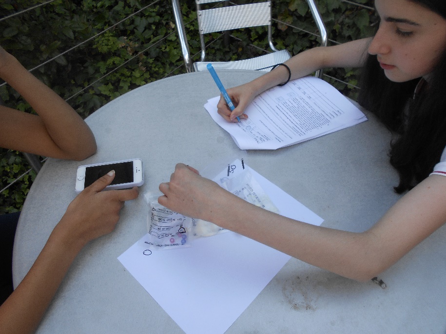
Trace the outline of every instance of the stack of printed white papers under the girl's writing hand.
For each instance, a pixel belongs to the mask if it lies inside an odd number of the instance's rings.
[[[227,122],[217,113],[219,99],[210,99],[204,107],[240,149],[281,148],[367,120],[333,86],[312,76],[261,93],[246,108],[248,119],[238,123]]]

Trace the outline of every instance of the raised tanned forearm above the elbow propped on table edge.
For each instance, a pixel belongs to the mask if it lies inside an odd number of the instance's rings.
[[[38,113],[56,149],[52,156],[83,160],[96,152],[95,137],[78,113],[58,94],[30,74],[16,58],[0,68],[0,77]]]

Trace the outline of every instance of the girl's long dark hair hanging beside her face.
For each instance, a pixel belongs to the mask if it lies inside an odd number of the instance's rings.
[[[446,0],[409,0],[446,19]],[[410,190],[427,178],[446,147],[446,45],[429,76],[427,88],[415,99],[420,78],[390,81],[376,56],[369,55],[361,76],[358,102],[395,134],[390,143],[390,163],[400,176],[397,193]]]

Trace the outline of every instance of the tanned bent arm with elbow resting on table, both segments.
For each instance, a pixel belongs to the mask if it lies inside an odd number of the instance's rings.
[[[0,147],[73,160],[96,152],[93,132],[78,113],[1,47],[0,77],[38,113],[0,106]]]

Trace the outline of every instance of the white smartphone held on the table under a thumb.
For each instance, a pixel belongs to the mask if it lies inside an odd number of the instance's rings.
[[[107,162],[102,164],[84,165],[78,167],[76,175],[76,192],[81,192],[97,179],[115,170],[115,179],[105,187],[105,190],[132,188],[144,183],[144,170],[141,159]]]

